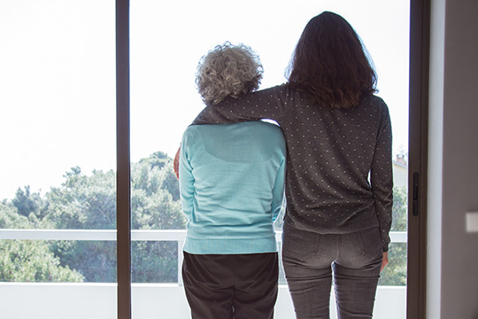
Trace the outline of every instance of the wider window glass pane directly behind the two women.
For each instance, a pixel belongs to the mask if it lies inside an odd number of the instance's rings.
[[[406,231],[406,176],[408,152],[408,2],[383,2],[380,0],[342,1],[131,1],[131,154],[133,196],[133,238],[135,230],[151,232],[159,242],[173,241],[180,247],[176,257],[181,269],[181,240],[184,235],[184,219],[177,197],[177,182],[172,173],[172,160],[181,142],[185,128],[204,107],[195,87],[195,74],[199,59],[215,45],[229,41],[244,43],[254,49],[264,66],[261,88],[265,89],[285,82],[284,70],[305,24],[323,11],[337,12],[356,28],[361,36],[378,73],[378,95],[389,105],[394,135],[394,172],[397,198],[402,201],[394,207],[393,231]],[[161,163],[161,164],[155,164]],[[165,183],[164,181],[167,181]],[[401,189],[400,187],[405,187]],[[166,203],[168,203],[166,205]],[[178,210],[179,209],[179,210]],[[173,231],[173,235],[168,231]],[[276,224],[281,230],[281,222]],[[181,232],[182,231],[182,232]],[[138,233],[139,234],[139,233]],[[143,233],[142,233],[143,234]],[[139,236],[139,235],[138,235]],[[141,235],[146,236],[146,235]],[[394,238],[402,240],[405,233]],[[138,237],[139,238],[139,237]],[[278,236],[280,238],[280,236]],[[135,240],[135,239],[133,239]],[[143,240],[143,239],[142,239]],[[133,245],[133,255],[153,250],[152,244]],[[392,245],[388,272],[381,284],[391,285],[389,274],[402,271],[402,253]],[[177,249],[171,245],[171,249]],[[401,249],[401,248],[400,248]],[[405,249],[405,248],[404,248]],[[169,248],[165,255],[173,258]],[[406,253],[405,253],[406,255]],[[158,256],[162,256],[158,253]],[[135,259],[134,271],[154,272],[147,262]],[[158,266],[159,267],[159,266]],[[143,270],[142,270],[143,269]],[[172,270],[171,274],[174,271]],[[406,271],[405,271],[406,273]],[[134,273],[135,274],[135,273]],[[153,278],[154,274],[149,276]],[[389,294],[389,287],[379,287],[375,314],[389,317],[390,304],[397,303],[397,318],[405,318],[405,276],[393,284],[397,295]],[[173,300],[181,294],[181,276],[176,285],[156,279],[150,281],[149,292],[168,300],[161,310],[152,309],[142,301],[146,281],[135,275],[133,290],[134,317],[155,311],[169,314],[173,309],[187,307],[186,300]],[[146,276],[145,276],[146,277]],[[172,275],[173,277],[173,275]],[[139,284],[142,283],[142,284]],[[293,307],[281,269],[281,289],[276,304],[278,318],[293,317]],[[394,288],[395,289],[395,288]],[[394,291],[395,292],[395,291]],[[398,299],[398,301],[397,301]],[[331,309],[335,308],[332,302]],[[403,306],[403,307],[402,307]],[[146,309],[144,308],[146,307]],[[156,306],[154,307],[156,308]],[[332,310],[334,312],[334,310]],[[386,315],[384,315],[386,314]],[[148,316],[144,316],[148,317]],[[392,319],[396,318],[393,317]]]

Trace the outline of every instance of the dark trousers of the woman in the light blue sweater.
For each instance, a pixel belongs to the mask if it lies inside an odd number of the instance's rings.
[[[184,252],[182,280],[192,318],[273,318],[277,260],[277,253]]]

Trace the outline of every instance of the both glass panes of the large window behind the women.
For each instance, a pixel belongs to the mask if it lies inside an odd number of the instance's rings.
[[[353,0],[274,5],[246,0],[231,8],[219,0],[131,1],[130,20],[129,1],[116,4],[116,52],[113,1],[18,0],[0,12],[5,154],[0,159],[0,255],[8,256],[0,261],[0,296],[8,305],[5,317],[41,312],[50,318],[113,318],[119,307],[119,316],[127,318],[130,298],[135,319],[169,313],[189,317],[180,275],[184,221],[171,164],[183,130],[203,107],[194,84],[197,61],[216,44],[244,43],[263,62],[261,88],[280,84],[305,23],[328,10],[357,29],[377,67],[378,95],[389,105],[400,201],[375,311],[381,317],[393,307],[397,318],[405,318],[406,185],[413,164],[408,160],[409,12],[421,2],[410,8],[408,2],[380,0],[360,5]],[[420,32],[415,30],[412,25],[412,35]],[[115,56],[124,68],[115,70]],[[115,81],[120,83],[118,185]],[[131,220],[117,225],[117,210],[121,221],[128,214],[129,196]],[[116,257],[117,227],[122,243],[129,243],[131,235],[131,260],[123,258],[125,250]],[[131,262],[131,294],[125,261],[128,267]],[[283,277],[281,284],[276,316],[290,318],[293,308]],[[39,300],[35,307],[18,303],[30,295],[29,300]]]

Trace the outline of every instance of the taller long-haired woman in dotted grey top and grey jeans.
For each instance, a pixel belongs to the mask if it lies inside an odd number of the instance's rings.
[[[389,109],[351,25],[333,12],[301,35],[289,82],[206,107],[195,123],[273,119],[287,140],[283,263],[297,318],[371,318],[388,263]]]

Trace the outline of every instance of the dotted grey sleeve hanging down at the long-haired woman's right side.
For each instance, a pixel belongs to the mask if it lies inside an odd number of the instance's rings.
[[[380,235],[382,237],[383,252],[389,251],[389,230],[392,221],[393,172],[391,146],[392,133],[389,109],[384,105],[370,171],[370,182],[374,194],[375,212],[379,222]]]

